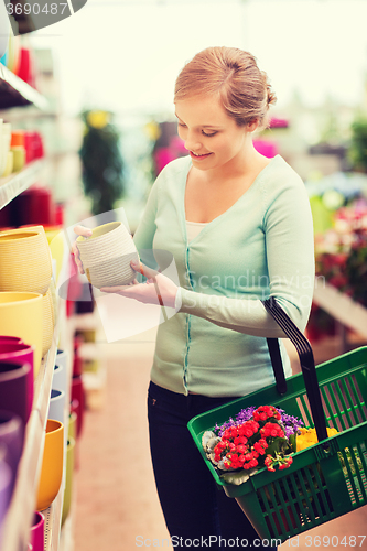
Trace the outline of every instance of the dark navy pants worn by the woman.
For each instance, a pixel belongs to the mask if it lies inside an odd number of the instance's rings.
[[[172,545],[179,549],[277,549],[261,543],[236,500],[217,487],[187,429],[193,417],[233,399],[184,396],[150,383],[155,484]]]

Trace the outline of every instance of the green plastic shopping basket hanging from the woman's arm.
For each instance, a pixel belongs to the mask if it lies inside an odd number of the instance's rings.
[[[259,536],[285,541],[367,504],[367,347],[315,368],[309,341],[274,301],[263,304],[295,345],[302,372],[280,380],[274,366],[280,355],[269,343],[277,339],[268,339],[278,388],[272,385],[207,411],[187,426],[216,483],[237,500]],[[319,443],[294,453],[284,471],[263,467],[239,486],[225,483],[206,457],[203,433],[244,408],[265,404],[315,428]],[[327,439],[326,425],[338,434]]]

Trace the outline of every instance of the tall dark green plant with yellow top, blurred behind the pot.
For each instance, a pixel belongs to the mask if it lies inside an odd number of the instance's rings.
[[[85,123],[79,156],[85,194],[94,215],[112,210],[125,192],[120,136],[107,111],[84,111]]]

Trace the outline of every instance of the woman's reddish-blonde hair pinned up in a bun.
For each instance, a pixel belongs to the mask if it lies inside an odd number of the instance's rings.
[[[181,71],[174,102],[193,96],[217,94],[227,115],[241,127],[257,120],[268,126],[269,106],[277,101],[268,76],[256,57],[236,47],[207,47]]]

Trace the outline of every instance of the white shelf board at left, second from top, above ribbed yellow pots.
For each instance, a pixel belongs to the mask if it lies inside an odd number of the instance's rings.
[[[45,165],[45,160],[39,159],[14,172],[8,177],[0,179],[0,209],[8,205],[17,195],[34,184]]]

